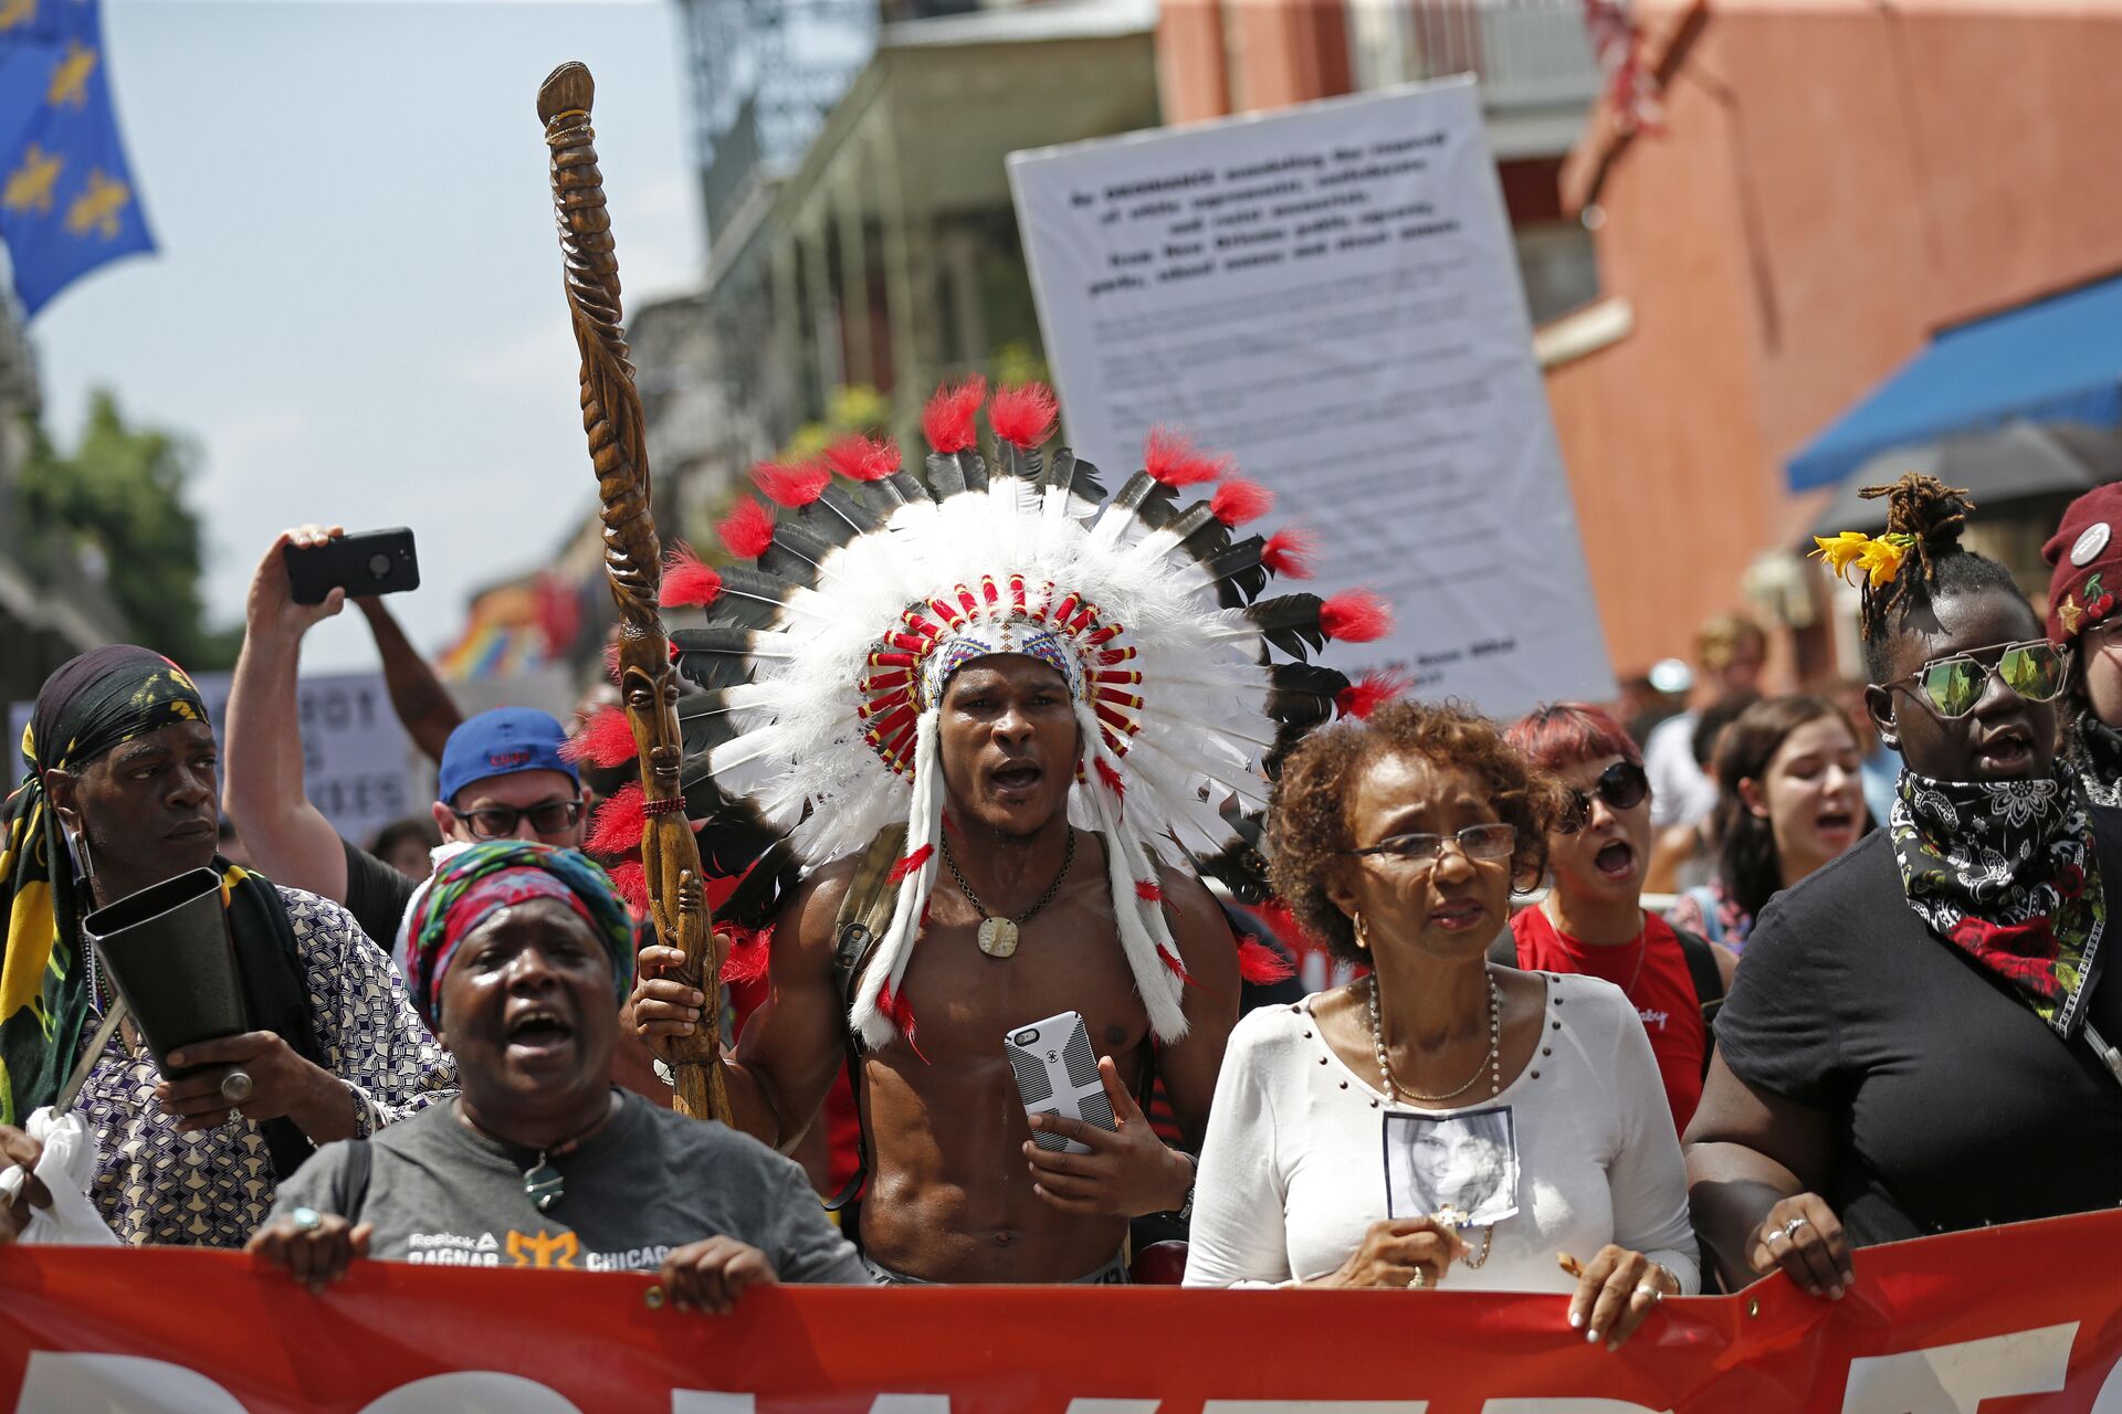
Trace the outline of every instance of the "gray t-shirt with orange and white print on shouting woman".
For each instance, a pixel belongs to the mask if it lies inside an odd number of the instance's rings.
[[[524,1194],[537,1153],[471,1132],[456,1104],[420,1111],[367,1143],[359,1204],[346,1191],[342,1141],[280,1185],[272,1217],[306,1206],[376,1223],[369,1255],[384,1261],[632,1272],[656,1270],[688,1242],[730,1236],[766,1253],[783,1283],[870,1283],[802,1168],[747,1134],[637,1094],[622,1092],[611,1124],[550,1160],[567,1181],[550,1213]]]

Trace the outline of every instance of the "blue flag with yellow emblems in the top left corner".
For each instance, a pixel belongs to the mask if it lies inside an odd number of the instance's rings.
[[[0,244],[25,314],[155,248],[110,108],[100,0],[0,0]]]

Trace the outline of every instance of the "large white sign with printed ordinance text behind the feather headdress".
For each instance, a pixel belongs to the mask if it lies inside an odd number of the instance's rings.
[[[1471,78],[1012,153],[1010,189],[1110,479],[1152,426],[1233,454],[1320,532],[1320,594],[1394,604],[1328,661],[1498,717],[1615,695]]]

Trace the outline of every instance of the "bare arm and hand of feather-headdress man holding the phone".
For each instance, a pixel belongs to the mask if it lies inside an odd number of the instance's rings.
[[[1156,1071],[1186,1145],[1199,1149],[1222,1051],[1237,1024],[1237,941],[1216,897],[1199,880],[1165,869],[1161,886],[1171,937],[1193,986],[1180,1003],[1186,1011],[1186,1039],[1156,1051]],[[1176,1210],[1193,1187],[1193,1162],[1156,1138],[1135,1098],[1120,1085],[1112,1058],[1101,1058],[1097,1071],[1118,1128],[1099,1130],[1080,1119],[1031,1115],[1027,1124],[1033,1130],[1053,1130],[1091,1145],[1091,1153],[1048,1153],[1027,1143],[1025,1160],[1038,1196],[1078,1215],[1142,1217]]]

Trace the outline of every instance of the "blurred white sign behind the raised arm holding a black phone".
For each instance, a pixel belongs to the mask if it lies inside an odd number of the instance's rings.
[[[229,674],[199,672],[191,678],[206,700],[206,719],[221,733],[229,706]],[[327,672],[295,685],[301,717],[301,774],[310,803],[331,827],[367,844],[378,829],[407,814],[427,812],[410,770],[412,742],[390,710],[390,689],[380,672]],[[8,746],[21,742],[34,702],[17,702],[8,712]],[[11,750],[11,757],[15,753]],[[8,770],[13,776],[15,770]]]

